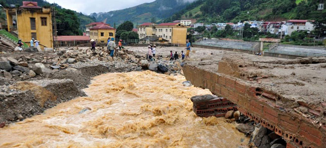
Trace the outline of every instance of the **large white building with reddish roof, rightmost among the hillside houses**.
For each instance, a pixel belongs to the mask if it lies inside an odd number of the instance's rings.
[[[288,20],[284,25],[282,25],[282,31],[284,35],[291,36],[294,31],[313,31],[314,24],[313,21],[308,20]]]

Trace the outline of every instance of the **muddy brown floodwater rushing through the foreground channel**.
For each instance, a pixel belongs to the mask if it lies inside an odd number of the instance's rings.
[[[0,129],[0,148],[239,148],[234,123],[201,118],[184,76],[153,72],[102,74],[80,97]],[[79,113],[83,108],[91,111]]]

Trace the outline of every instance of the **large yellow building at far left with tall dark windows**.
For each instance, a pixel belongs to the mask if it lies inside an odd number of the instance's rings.
[[[41,47],[53,48],[51,8],[41,8],[37,2],[23,1],[19,8],[5,8],[8,31],[17,31],[18,38],[30,45],[35,38]]]

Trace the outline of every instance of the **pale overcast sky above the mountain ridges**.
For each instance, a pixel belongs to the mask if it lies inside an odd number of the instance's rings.
[[[64,8],[72,9],[84,14],[93,12],[109,12],[136,6],[145,2],[155,0],[46,0],[50,3],[57,3]]]

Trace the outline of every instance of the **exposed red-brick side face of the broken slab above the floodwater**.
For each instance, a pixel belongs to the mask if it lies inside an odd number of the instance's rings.
[[[183,72],[195,86],[209,89],[238,105],[238,110],[275,131],[288,143],[286,148],[326,148],[326,126],[313,124],[292,109],[286,109],[278,94],[228,75],[185,65]]]

